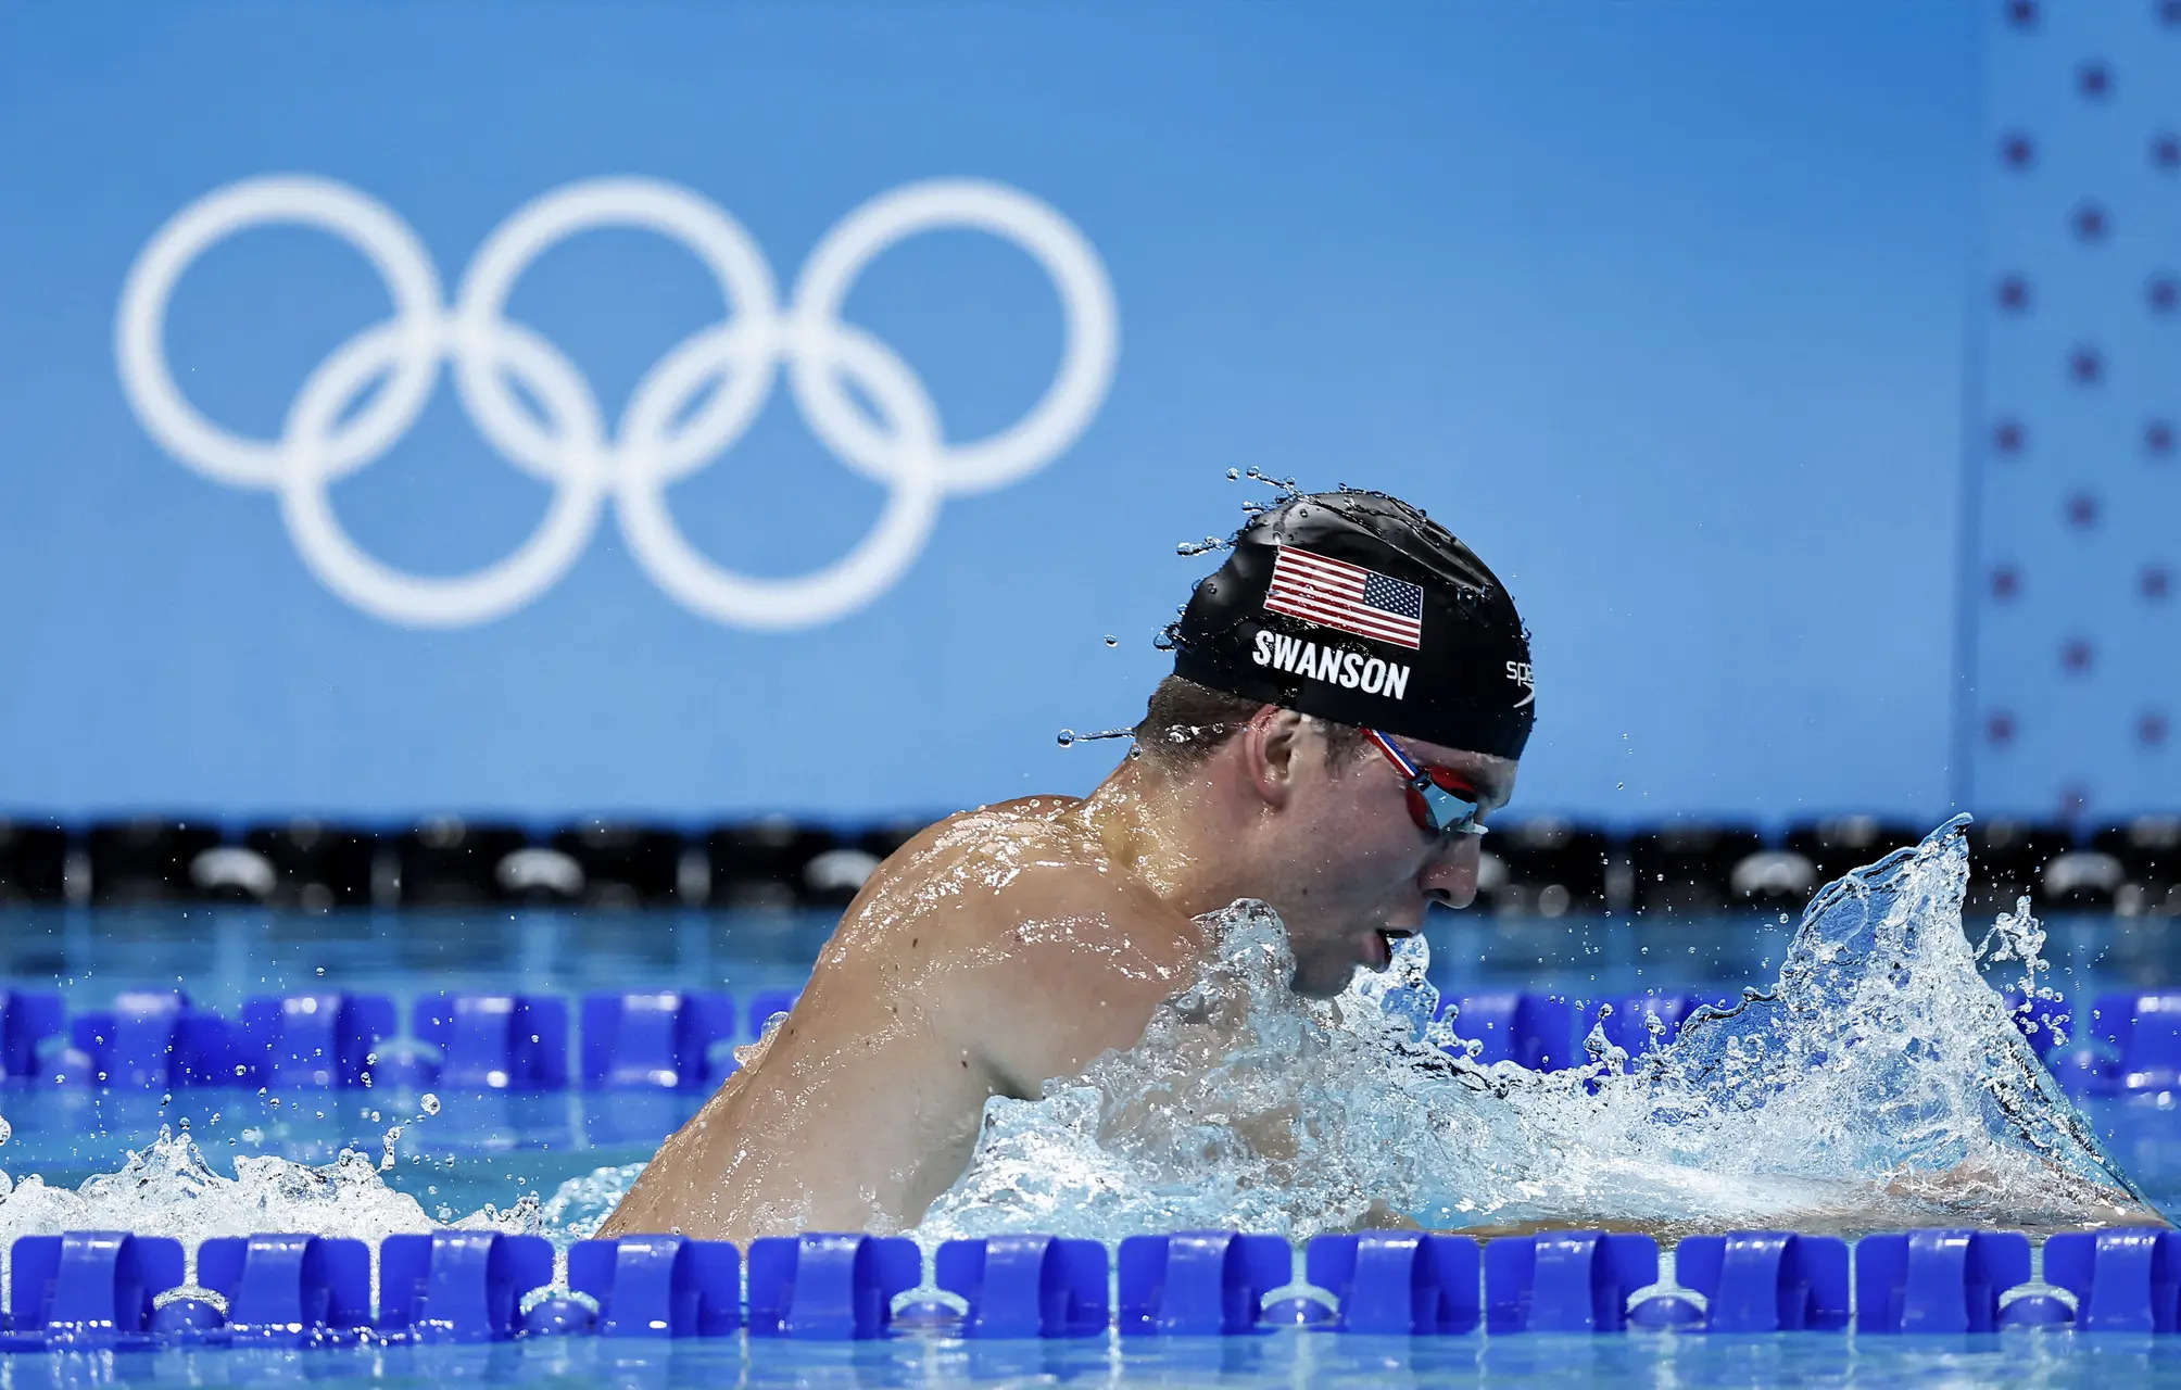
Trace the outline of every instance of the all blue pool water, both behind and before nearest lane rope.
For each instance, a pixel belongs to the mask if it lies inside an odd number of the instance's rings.
[[[0,910],[0,978],[59,986],[72,1010],[122,988],[179,986],[233,1010],[260,993],[356,991],[406,1002],[432,991],[728,988],[737,999],[794,991],[824,916],[737,912],[356,912]],[[2046,923],[2050,982],[2072,997],[2177,984],[2174,925],[2155,919]],[[1431,975],[1459,991],[1525,988],[1575,1002],[1647,988],[1732,993],[1767,984],[1793,923],[1716,916],[1673,925],[1601,919],[1511,921],[1442,914]],[[1972,923],[1972,936],[1978,927]],[[2011,984],[1998,967],[1996,984]],[[264,1095],[253,1089],[0,1091],[11,1135],[0,1172],[65,1189],[113,1174],[131,1152],[159,1191],[229,1185],[240,1159],[327,1165],[358,1150],[371,1185],[414,1198],[430,1220],[484,1213],[495,1224],[576,1239],[685,1119],[696,1093],[543,1095],[417,1089]],[[2174,1095],[2078,1098],[2107,1152],[2168,1215],[2181,1213]],[[399,1133],[390,1135],[399,1126]],[[188,1143],[146,1146],[161,1130]],[[203,1165],[203,1167],[198,1167]],[[338,1183],[297,1170],[288,1196],[316,1185],[329,1218]],[[384,1191],[382,1189],[382,1191]],[[604,1200],[600,1194],[608,1194]],[[22,1196],[17,1187],[15,1198]],[[303,1191],[310,1196],[310,1191]],[[0,1226],[9,1202],[0,1202]],[[356,1213],[351,1213],[356,1215]],[[375,1218],[371,1218],[375,1220]],[[364,1220],[369,1226],[371,1220]],[[1570,1377],[1675,1383],[2087,1383],[2116,1375],[2181,1379],[2181,1338],[2011,1331],[1985,1338],[1854,1333],[1568,1338],[1555,1333],[1359,1338],[1278,1331],[1252,1338],[1084,1338],[964,1342],[903,1335],[877,1344],[750,1338],[630,1344],[602,1338],[497,1346],[159,1351],[0,1355],[0,1390],[76,1383],[229,1386],[305,1377],[321,1383],[704,1383],[909,1386],[999,1383],[1566,1383]]]

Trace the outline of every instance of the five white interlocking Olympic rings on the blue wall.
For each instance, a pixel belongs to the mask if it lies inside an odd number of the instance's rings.
[[[316,227],[362,251],[386,281],[395,314],[310,373],[279,439],[249,439],[205,419],[181,395],[166,362],[166,310],[198,255],[275,223]],[[680,242],[718,281],[728,310],[650,367],[611,430],[567,356],[502,316],[532,260],[598,227]],[[1060,290],[1064,319],[1060,369],[1038,404],[1012,428],[971,443],[944,441],[916,373],[840,319],[864,266],[938,227],[986,231],[1027,251]],[[478,249],[451,308],[441,303],[438,275],[417,233],[382,203],[329,179],[244,179],[190,203],[150,238],[129,268],[116,321],[122,391],[146,432],[218,482],[279,493],[288,535],[310,570],[351,604],[412,626],[489,622],[528,604],[576,561],[608,498],[630,554],[691,611],[750,628],[829,622],[907,570],[949,493],[1003,487],[1064,452],[1106,397],[1117,351],[1112,286],[1090,242],[1045,203],[973,179],[907,183],[851,212],[811,251],[785,308],[750,233],[709,201],[656,179],[585,179],[523,205]],[[456,391],[484,439],[554,487],[545,519],[513,554],[451,578],[408,574],[366,554],[342,530],[327,493],[417,423],[443,362],[451,362]],[[722,570],[683,537],[665,489],[750,428],[781,364],[811,432],[851,469],[885,484],[888,502],[831,565],[752,578]],[[543,421],[523,408],[510,378],[539,404]],[[844,380],[881,423],[853,404]]]

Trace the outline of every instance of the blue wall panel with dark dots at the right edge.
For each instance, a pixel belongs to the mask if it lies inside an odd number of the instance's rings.
[[[1965,794],[2181,805],[2181,4],[1996,7]]]

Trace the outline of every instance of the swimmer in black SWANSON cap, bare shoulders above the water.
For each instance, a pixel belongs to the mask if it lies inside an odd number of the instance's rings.
[[[914,1226],[986,1100],[1143,1036],[1210,956],[1202,914],[1272,903],[1293,988],[1330,997],[1431,903],[1472,901],[1535,705],[1529,635],[1468,546],[1381,493],[1298,495],[1237,532],[1171,637],[1095,792],[951,816],[870,875],[602,1237]]]

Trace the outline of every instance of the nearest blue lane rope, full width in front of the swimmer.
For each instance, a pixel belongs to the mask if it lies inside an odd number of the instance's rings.
[[[1276,1327],[1376,1335],[1987,1333],[2009,1327],[2172,1333],[2181,1233],[2055,1235],[2044,1281],[2015,1231],[1904,1231],[1849,1248],[1832,1235],[1688,1237],[1664,1283],[1649,1235],[1182,1231],[1099,1242],[995,1235],[947,1242],[925,1279],[905,1237],[805,1233],[750,1242],[630,1235],[580,1242],[556,1277],[541,1235],[388,1235],[373,1296],[364,1242],[207,1239],[194,1283],[172,1237],[26,1235],[13,1246],[0,1351],[342,1346],[519,1338],[861,1340],[903,1325],[957,1338],[1261,1335]],[[1285,1292],[1287,1298],[1267,1301]],[[949,1303],[949,1296],[957,1301]]]

